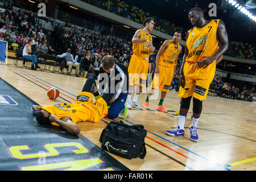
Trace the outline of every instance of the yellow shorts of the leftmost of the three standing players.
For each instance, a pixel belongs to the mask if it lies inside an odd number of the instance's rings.
[[[128,67],[128,73],[130,85],[146,87],[148,58],[133,54]]]

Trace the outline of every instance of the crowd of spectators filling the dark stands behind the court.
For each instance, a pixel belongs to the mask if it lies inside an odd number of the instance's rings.
[[[102,0],[101,3],[108,5],[109,10],[114,8],[114,6],[109,6],[109,1]],[[134,12],[139,13],[141,18],[138,19],[134,13],[125,13],[125,11],[129,8],[136,10]],[[149,16],[148,13],[143,13],[142,10],[138,10],[138,8],[134,6],[126,6],[125,9],[115,11],[115,13],[117,12],[119,15],[125,15],[137,22],[141,22],[143,18]],[[133,52],[132,43],[127,40],[127,38],[121,39],[117,36],[110,36],[106,29],[103,28],[104,26],[102,26],[102,28],[97,28],[98,31],[93,31],[93,23],[90,23],[90,20],[88,19],[87,23],[90,24],[90,29],[85,27],[82,29],[76,26],[72,27],[69,23],[55,24],[55,29],[51,37],[52,45],[50,45],[50,37],[46,34],[46,30],[38,26],[36,23],[36,18],[38,18],[38,15],[32,11],[23,9],[16,11],[13,9],[13,5],[11,3],[3,5],[0,9],[0,40],[6,40],[8,42],[9,49],[15,50],[18,47],[24,47],[24,45],[28,43],[28,39],[32,39],[32,48],[34,51],[48,53],[51,55],[58,55],[60,53],[67,52],[67,49],[70,48],[74,57],[76,55],[81,57],[82,53],[84,53],[84,56],[90,54],[90,63],[96,68],[100,66],[102,57],[105,55],[113,55],[115,61],[119,61],[119,63],[122,63],[128,67],[130,57]],[[51,17],[48,19],[48,21],[50,21],[52,24],[55,23],[55,20]],[[156,27],[159,26],[156,25]],[[157,28],[157,30],[158,29],[159,28]],[[235,50],[238,51],[238,53],[236,53],[237,56],[241,56],[241,58],[254,59],[252,56],[255,54],[255,51],[252,45],[247,43],[244,45],[238,42],[232,42],[232,45],[236,46]],[[243,55],[244,51],[249,52],[250,57]],[[157,51],[150,56],[152,65],[149,73],[154,74],[156,54]],[[174,80],[172,80],[171,89],[174,91],[179,90],[180,86],[179,71],[182,61],[181,55],[183,54],[180,53],[179,59],[177,60],[175,77]],[[241,91],[239,88],[236,88],[236,86],[230,85],[229,83],[224,84],[220,77],[214,77],[214,80],[210,85],[209,94],[212,96],[233,98],[238,100],[250,100],[251,98],[250,95],[246,95],[245,91]]]

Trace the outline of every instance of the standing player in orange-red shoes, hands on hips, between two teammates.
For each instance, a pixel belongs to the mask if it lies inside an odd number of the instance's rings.
[[[179,44],[181,40],[181,32],[175,32],[172,40],[166,40],[158,51],[155,62],[155,76],[151,83],[151,88],[148,91],[148,96],[144,102],[143,107],[150,109],[148,100],[152,95],[153,89],[159,89],[161,91],[161,98],[156,110],[167,113],[164,109],[163,100],[166,97],[167,92],[170,90],[172,79],[177,65],[177,59],[181,52],[182,47]],[[158,81],[156,81],[158,79]]]

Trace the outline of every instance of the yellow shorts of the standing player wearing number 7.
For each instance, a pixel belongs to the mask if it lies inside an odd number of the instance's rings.
[[[205,100],[215,71],[216,61],[213,61],[207,68],[199,68],[193,63],[185,62],[183,68],[185,86],[184,88],[180,86],[178,96],[182,98],[193,96],[200,101]]]

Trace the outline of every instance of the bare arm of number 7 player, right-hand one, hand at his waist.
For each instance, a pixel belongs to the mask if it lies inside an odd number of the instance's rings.
[[[204,60],[200,61],[197,64],[199,68],[208,67],[209,64],[211,64],[214,60],[217,60],[218,57],[223,55],[228,50],[228,46],[229,46],[228,33],[226,32],[226,27],[222,20],[220,20],[220,22],[218,23],[217,39],[218,39],[218,42],[221,44],[220,48],[216,53],[214,53],[213,56],[205,57]]]

